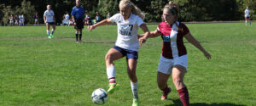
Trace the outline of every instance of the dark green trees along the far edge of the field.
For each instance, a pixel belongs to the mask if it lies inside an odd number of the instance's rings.
[[[96,11],[105,19],[107,14],[119,13],[120,0],[81,0],[86,14],[96,16]],[[131,0],[146,14],[146,22],[160,22],[162,8],[170,0]],[[224,21],[243,20],[246,7],[251,14],[256,12],[255,0],[172,0],[180,8],[180,21]],[[46,5],[52,5],[57,23],[61,23],[63,14],[70,14],[75,0],[1,0],[0,20],[8,24],[10,14],[24,14],[26,23],[33,23],[34,14],[38,13],[39,22],[43,23]],[[256,18],[256,16],[255,16]]]

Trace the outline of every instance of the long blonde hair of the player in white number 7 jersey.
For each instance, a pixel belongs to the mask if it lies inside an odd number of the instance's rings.
[[[142,10],[140,8],[137,8],[137,6],[134,3],[131,3],[130,0],[121,0],[119,3],[119,7],[129,7],[131,8],[132,14],[137,14],[143,20],[145,19],[145,14],[143,14]]]

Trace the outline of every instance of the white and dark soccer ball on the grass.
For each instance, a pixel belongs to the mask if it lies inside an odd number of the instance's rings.
[[[103,104],[108,100],[108,94],[104,89],[98,88],[92,92],[91,99],[93,103]]]

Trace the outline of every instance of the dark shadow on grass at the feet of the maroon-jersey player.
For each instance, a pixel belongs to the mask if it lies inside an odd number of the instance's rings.
[[[183,106],[183,103],[179,100],[171,100],[174,104],[166,105],[166,106]],[[241,104],[233,104],[233,103],[190,103],[190,106],[246,106]]]

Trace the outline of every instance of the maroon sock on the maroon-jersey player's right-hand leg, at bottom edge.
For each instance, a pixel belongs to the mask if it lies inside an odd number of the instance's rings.
[[[183,106],[189,106],[189,91],[187,87],[177,90],[180,100],[183,102]]]

